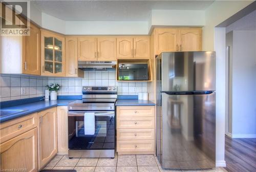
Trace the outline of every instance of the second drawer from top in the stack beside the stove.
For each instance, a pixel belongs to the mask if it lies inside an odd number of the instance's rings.
[[[154,128],[153,117],[117,118],[117,128]]]

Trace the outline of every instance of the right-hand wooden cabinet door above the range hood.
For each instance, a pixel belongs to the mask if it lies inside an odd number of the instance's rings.
[[[97,38],[98,61],[116,61],[116,38]]]

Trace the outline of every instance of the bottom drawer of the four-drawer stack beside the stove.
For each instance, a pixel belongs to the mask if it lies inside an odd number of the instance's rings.
[[[154,154],[154,140],[117,140],[117,152],[121,154]]]

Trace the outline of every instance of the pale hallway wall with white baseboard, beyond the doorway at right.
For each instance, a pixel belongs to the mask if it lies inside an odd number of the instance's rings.
[[[256,31],[233,31],[232,137],[256,138]]]

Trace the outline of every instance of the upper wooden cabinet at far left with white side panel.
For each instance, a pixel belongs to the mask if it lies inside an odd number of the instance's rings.
[[[40,75],[40,49],[40,29],[32,23],[30,36],[1,36],[1,73]]]

